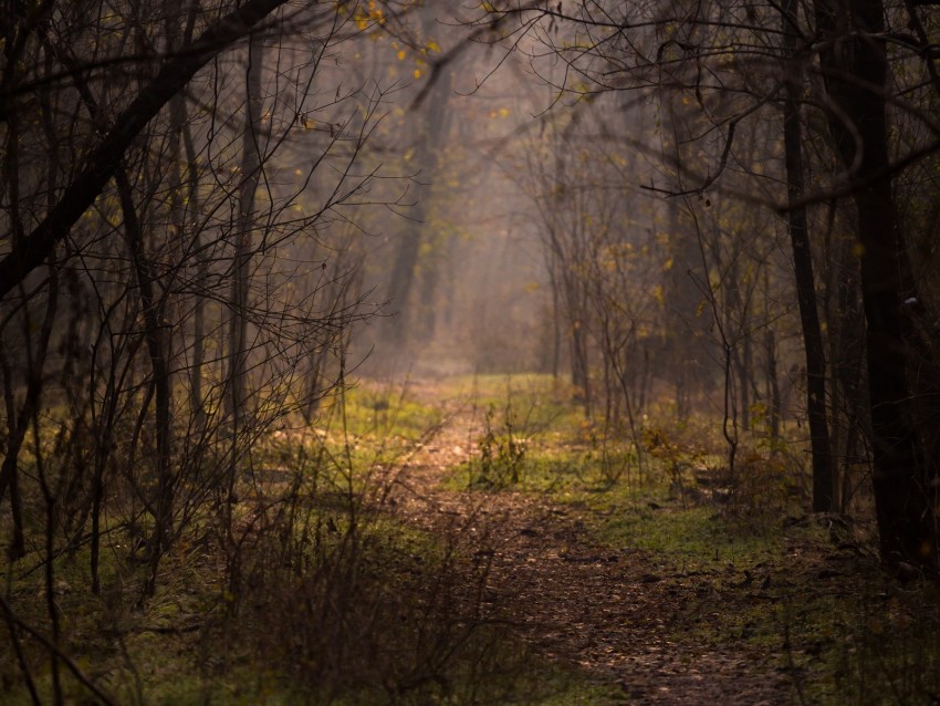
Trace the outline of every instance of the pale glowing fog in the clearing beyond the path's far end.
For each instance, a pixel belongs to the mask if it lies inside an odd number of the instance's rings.
[[[367,25],[330,62],[337,94],[377,104],[364,153],[383,175],[369,197],[387,207],[354,217],[378,311],[354,335],[361,370],[551,372],[584,385],[573,359],[595,343],[573,339],[602,335],[586,313],[592,258],[620,279],[595,294],[629,299],[644,338],[660,325],[648,300],[662,305],[664,287],[691,308],[667,305],[687,322],[700,303],[687,276],[700,261],[660,277],[673,245],[657,228],[681,207],[644,188],[677,184],[654,93],[572,87],[537,33],[481,34],[451,9]],[[620,269],[612,258],[625,248],[636,261]],[[627,364],[648,368],[649,351],[636,355]]]

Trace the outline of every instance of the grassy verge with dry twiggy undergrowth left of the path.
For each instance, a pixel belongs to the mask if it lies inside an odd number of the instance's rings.
[[[3,564],[0,702],[604,703],[606,687],[533,654],[481,602],[460,528],[431,536],[385,505],[440,409],[363,385],[322,413],[258,440],[230,520],[191,508],[153,595],[149,528],[127,499],[105,516],[98,593],[87,539],[33,530]]]

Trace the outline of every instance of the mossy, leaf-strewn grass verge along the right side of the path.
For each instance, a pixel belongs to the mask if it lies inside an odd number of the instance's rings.
[[[808,513],[796,449],[756,438],[730,478],[718,422],[709,437],[701,421],[645,421],[637,445],[558,409],[544,381],[528,385],[535,392],[522,399],[512,383],[499,398],[490,383],[477,454],[450,488],[543,494],[576,510],[591,541],[637,558],[672,641],[784,673],[802,703],[940,698],[937,586],[880,571],[870,518]],[[526,427],[540,395],[552,413]]]

